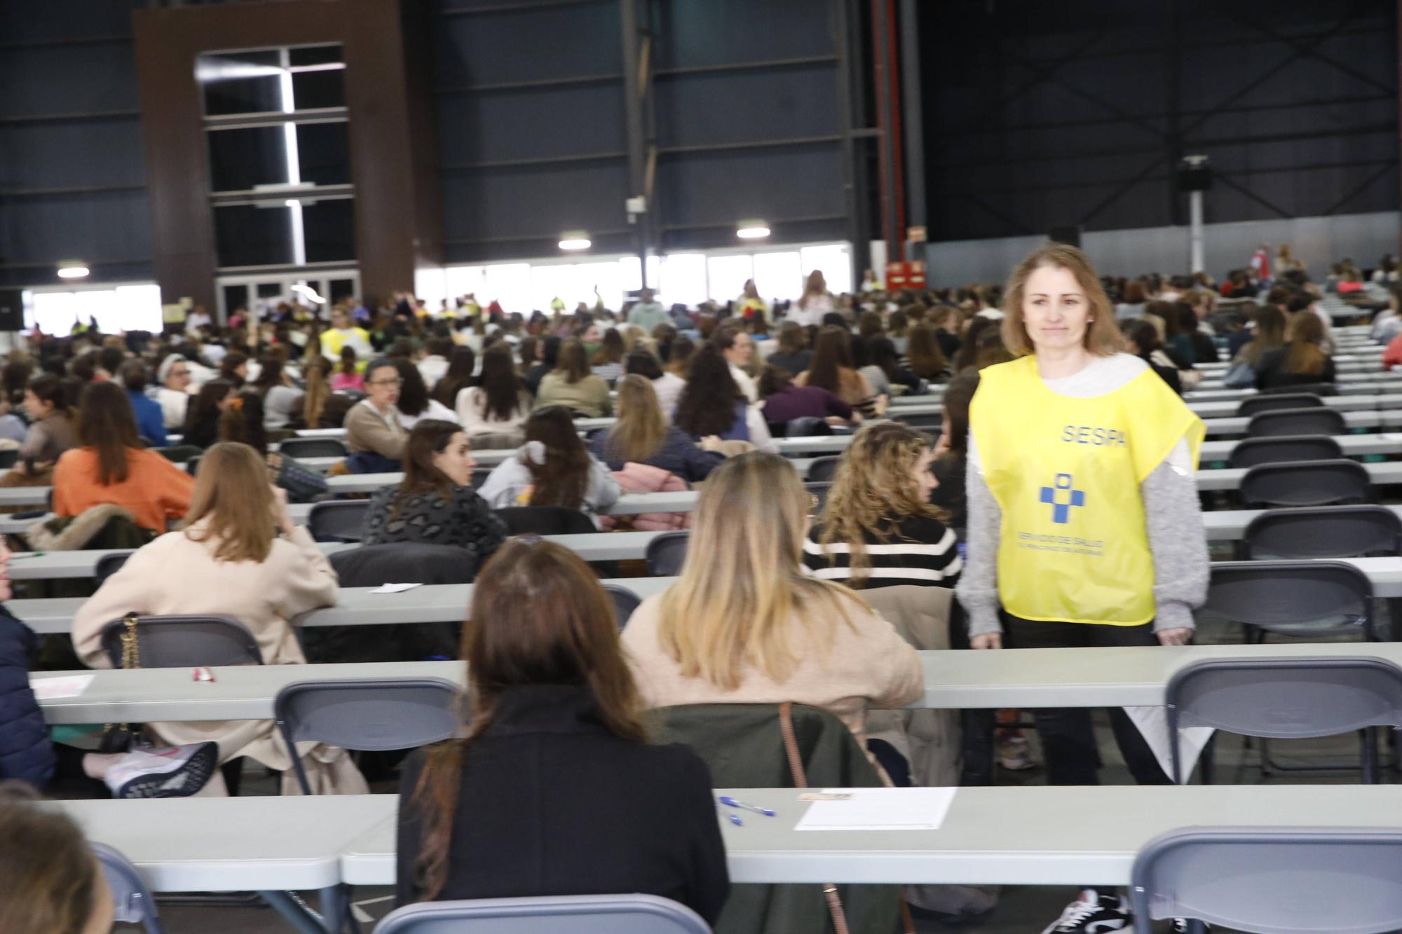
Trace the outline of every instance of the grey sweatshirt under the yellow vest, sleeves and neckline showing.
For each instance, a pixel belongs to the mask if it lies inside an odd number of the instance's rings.
[[[1095,358],[1080,373],[1043,380],[1054,393],[1092,398],[1112,393],[1144,372],[1145,363],[1129,353]],[[1002,510],[983,478],[973,436],[969,438],[969,555],[955,593],[969,614],[969,635],[1001,632],[998,623],[998,539]],[[1148,547],[1154,558],[1154,631],[1193,628],[1193,607],[1207,599],[1207,537],[1203,534],[1192,453],[1179,439],[1168,457],[1140,484]]]

